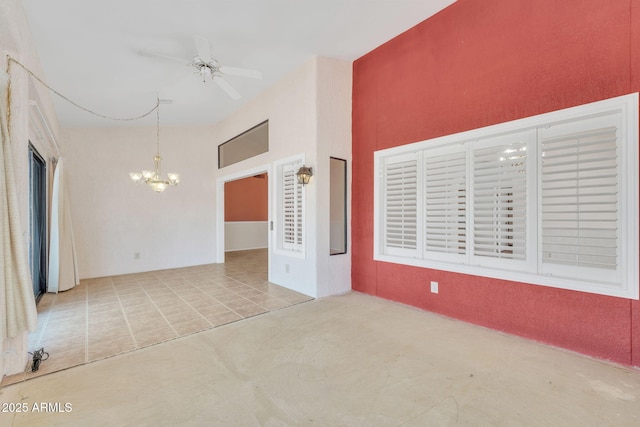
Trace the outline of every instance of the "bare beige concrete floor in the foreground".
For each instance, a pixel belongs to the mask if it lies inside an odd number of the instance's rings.
[[[639,426],[640,371],[351,293],[9,385],[0,401],[3,426]]]

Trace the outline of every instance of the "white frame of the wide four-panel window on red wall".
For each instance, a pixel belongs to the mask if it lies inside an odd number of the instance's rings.
[[[513,282],[523,282],[561,289],[589,292],[614,297],[638,299],[638,93],[598,101],[578,107],[567,108],[501,123],[485,128],[474,129],[453,135],[447,135],[417,143],[376,151],[374,153],[374,259],[384,262],[412,265],[456,273],[492,277]],[[542,262],[542,234],[540,231],[542,211],[539,188],[542,175],[541,135],[548,127],[566,124],[583,119],[617,115],[618,132],[618,267],[617,276],[603,279],[597,276],[579,274],[572,268],[544,268]],[[526,195],[526,258],[515,260],[481,260],[473,256],[472,233],[473,217],[473,149],[483,141],[502,138],[505,135],[523,133],[527,135],[527,195]],[[466,253],[431,254],[424,250],[423,241],[418,246],[417,255],[393,254],[384,248],[383,186],[384,164],[386,159],[396,156],[417,156],[423,158],[447,150],[466,150],[467,187],[466,187]],[[420,162],[419,182],[423,182],[424,160]],[[424,209],[422,193],[418,193],[418,206]],[[424,240],[424,219],[418,220],[418,235]],[[577,267],[578,270],[584,269]],[[557,271],[554,271],[557,270]],[[573,272],[572,272],[573,270]],[[560,274],[560,275],[558,275]],[[612,275],[615,276],[615,275]]]

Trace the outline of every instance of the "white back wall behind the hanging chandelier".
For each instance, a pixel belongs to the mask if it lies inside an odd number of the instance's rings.
[[[181,178],[163,193],[129,179],[129,172],[153,169],[154,127],[64,129],[62,135],[81,278],[214,261],[209,127],[161,127],[163,173]]]

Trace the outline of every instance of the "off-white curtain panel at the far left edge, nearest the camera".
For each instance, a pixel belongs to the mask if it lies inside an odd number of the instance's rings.
[[[18,195],[13,172],[13,155],[7,123],[9,75],[0,71],[0,338],[14,337],[38,326],[27,245],[23,240]]]

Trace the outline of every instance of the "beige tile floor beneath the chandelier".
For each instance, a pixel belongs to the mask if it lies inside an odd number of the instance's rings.
[[[311,298],[267,281],[266,250],[227,253],[225,264],[81,281],[38,304],[33,352],[49,358],[36,372],[2,385],[138,350]]]

